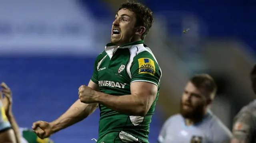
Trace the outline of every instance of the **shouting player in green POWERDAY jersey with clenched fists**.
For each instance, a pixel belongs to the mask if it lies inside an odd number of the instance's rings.
[[[121,4],[111,43],[96,58],[88,86],[80,86],[79,99],[60,118],[33,124],[38,137],[49,137],[99,107],[97,143],[148,143],[161,77],[156,58],[144,45],[153,21],[152,11],[141,3]]]

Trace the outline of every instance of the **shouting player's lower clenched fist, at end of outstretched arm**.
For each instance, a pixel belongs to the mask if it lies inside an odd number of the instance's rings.
[[[50,123],[46,121],[34,122],[32,129],[40,139],[50,137],[53,133]]]

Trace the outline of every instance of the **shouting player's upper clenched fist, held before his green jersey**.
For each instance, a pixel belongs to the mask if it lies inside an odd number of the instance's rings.
[[[95,103],[96,102],[96,96],[97,92],[93,90],[92,88],[82,85],[79,87],[78,96],[82,103]]]

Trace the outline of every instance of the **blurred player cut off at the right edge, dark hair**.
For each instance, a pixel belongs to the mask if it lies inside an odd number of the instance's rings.
[[[250,79],[252,89],[256,94],[256,65],[254,65]],[[233,139],[231,143],[256,143],[256,100],[244,106],[234,118]]]

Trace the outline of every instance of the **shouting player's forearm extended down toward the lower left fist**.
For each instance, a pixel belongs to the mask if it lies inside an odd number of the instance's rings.
[[[53,133],[82,121],[92,114],[97,107],[98,104],[96,103],[84,104],[80,100],[77,100],[60,118],[50,123]]]

